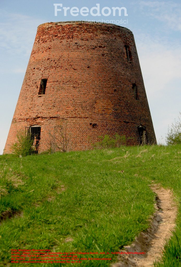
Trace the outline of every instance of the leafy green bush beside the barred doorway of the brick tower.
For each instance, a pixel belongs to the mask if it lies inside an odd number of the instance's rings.
[[[32,154],[33,140],[31,133],[29,131],[26,132],[26,130],[21,129],[17,131],[16,137],[17,142],[11,146],[11,151],[13,152],[13,154],[22,157]]]

